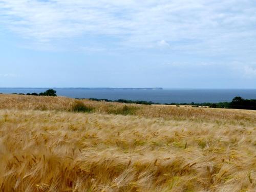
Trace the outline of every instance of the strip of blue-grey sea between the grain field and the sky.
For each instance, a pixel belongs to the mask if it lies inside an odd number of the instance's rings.
[[[0,93],[40,93],[49,88],[0,88]],[[58,96],[71,98],[128,99],[144,100],[159,103],[203,103],[224,102],[240,96],[245,99],[256,99],[256,89],[163,89],[163,90],[88,90],[53,88]]]

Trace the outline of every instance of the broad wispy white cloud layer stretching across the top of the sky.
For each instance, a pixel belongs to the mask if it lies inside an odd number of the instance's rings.
[[[123,47],[255,52],[256,9],[250,0],[0,0],[0,19],[37,42],[93,35],[114,37]]]

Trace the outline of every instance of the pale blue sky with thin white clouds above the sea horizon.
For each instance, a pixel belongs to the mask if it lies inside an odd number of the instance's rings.
[[[0,87],[256,89],[256,1],[0,0]]]

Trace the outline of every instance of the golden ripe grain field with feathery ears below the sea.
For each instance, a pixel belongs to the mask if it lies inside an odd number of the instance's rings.
[[[0,190],[256,191],[256,111],[0,94]]]

